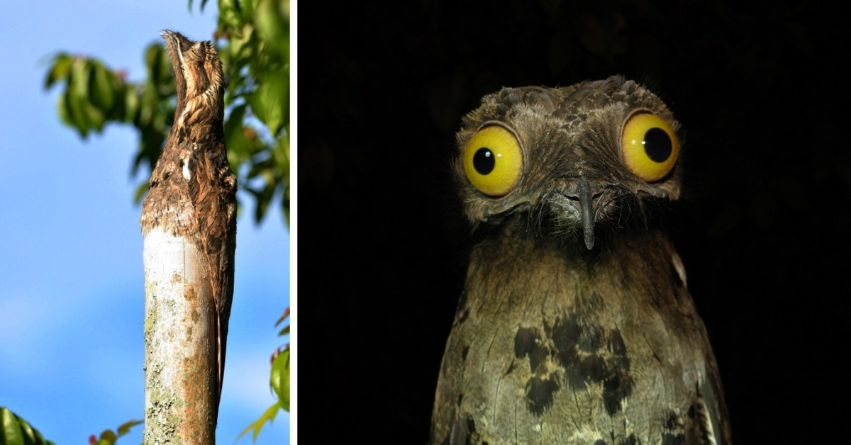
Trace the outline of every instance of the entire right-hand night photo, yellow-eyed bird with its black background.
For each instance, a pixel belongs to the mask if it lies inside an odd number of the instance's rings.
[[[323,440],[843,437],[841,14],[301,6],[298,408]]]

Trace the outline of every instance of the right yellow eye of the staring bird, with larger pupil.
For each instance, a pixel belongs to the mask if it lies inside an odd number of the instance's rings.
[[[648,182],[664,178],[680,151],[671,125],[650,113],[638,113],[626,121],[620,146],[626,167]]]

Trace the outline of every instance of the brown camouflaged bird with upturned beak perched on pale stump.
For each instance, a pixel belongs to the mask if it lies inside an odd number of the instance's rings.
[[[213,294],[218,350],[218,396],[225,370],[227,323],[233,296],[237,240],[237,180],[225,148],[225,79],[212,43],[163,31],[174,67],[174,123],[142,204],[142,230],[165,228],[202,253]],[[218,406],[218,399],[216,401]]]

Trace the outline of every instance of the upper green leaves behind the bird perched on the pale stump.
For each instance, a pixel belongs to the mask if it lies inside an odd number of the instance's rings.
[[[219,0],[218,6],[213,37],[228,80],[228,158],[239,189],[254,197],[254,220],[262,220],[271,203],[280,199],[288,221],[289,2]],[[45,89],[61,86],[60,119],[83,139],[102,132],[107,123],[139,132],[133,174],[140,167],[150,172],[157,163],[176,104],[174,74],[162,42],[146,48],[145,66],[146,77],[130,82],[126,73],[100,60],[60,52],[54,54],[44,81]],[[145,180],[135,193],[137,203],[146,191]]]

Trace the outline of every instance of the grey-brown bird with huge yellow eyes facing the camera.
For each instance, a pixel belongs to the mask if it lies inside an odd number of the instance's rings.
[[[473,226],[432,443],[725,443],[721,379],[661,215],[679,123],[623,77],[503,88],[467,114]]]

